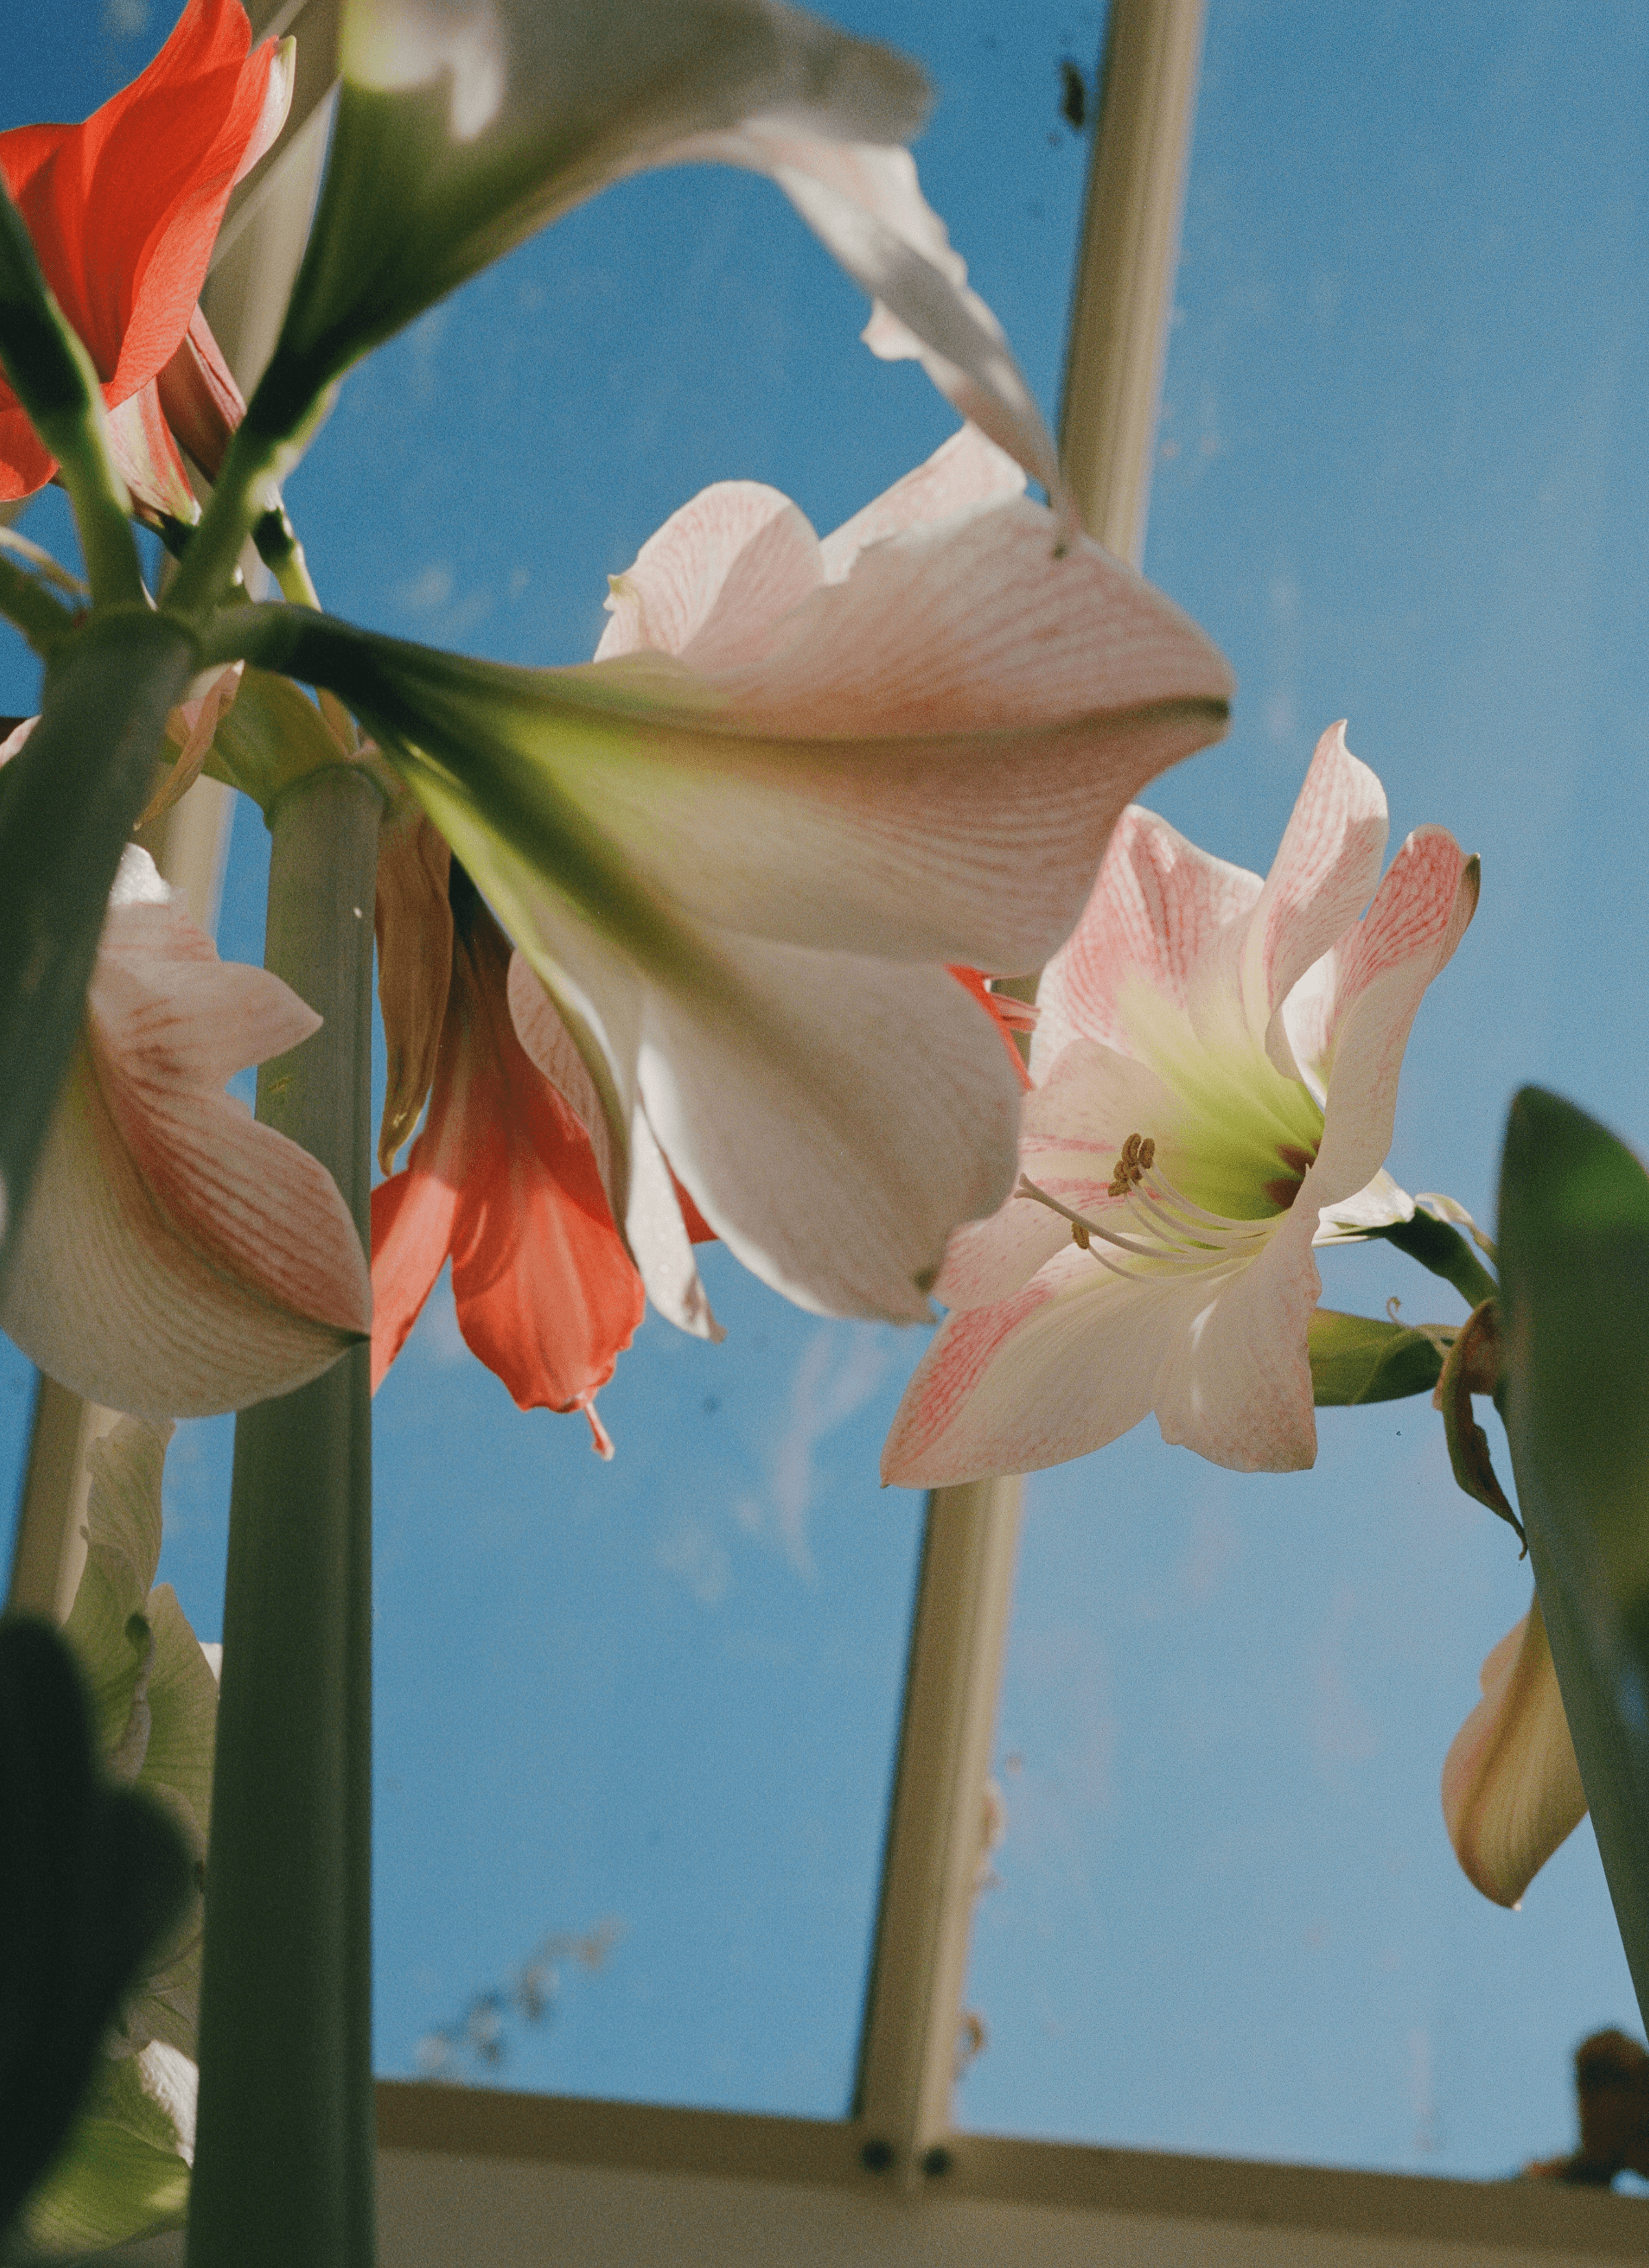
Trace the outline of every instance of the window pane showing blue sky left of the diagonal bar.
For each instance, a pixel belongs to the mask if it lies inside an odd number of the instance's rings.
[[[837,14],[932,70],[923,184],[1052,411],[1086,163],[1062,57],[1091,79],[1098,9]],[[82,113],[161,16],[86,5],[84,48],[7,88],[7,118]],[[953,431],[914,365],[857,342],[864,320],[769,184],[624,184],[345,383],[288,485],[324,601],[401,637],[585,660],[606,576],[708,481],[771,481],[823,533]],[[61,531],[54,499],[27,526]],[[243,959],[263,871],[243,807],[222,919]],[[921,1515],[880,1492],[876,1456],[923,1334],[803,1315],[719,1250],[708,1281],[726,1347],[642,1329],[601,1395],[610,1467],[578,1417],[510,1406],[445,1284],[379,1397],[388,2075],[846,2109]],[[161,1574],[202,1637],[229,1447],[227,1420],[191,1424],[168,1461]]]

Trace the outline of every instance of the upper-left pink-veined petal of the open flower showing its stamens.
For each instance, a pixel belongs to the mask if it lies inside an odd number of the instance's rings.
[[[1073,1039],[1127,1052],[1123,989],[1143,984],[1186,1005],[1191,971],[1214,937],[1248,914],[1261,882],[1186,841],[1166,819],[1130,805],[1116,821],[1093,894],[1037,987],[1034,1077]]]

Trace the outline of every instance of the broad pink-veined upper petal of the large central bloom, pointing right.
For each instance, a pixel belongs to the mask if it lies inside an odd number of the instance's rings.
[[[1130,796],[1218,737],[1229,689],[1170,601],[1048,538],[1039,506],[987,506],[864,551],[760,667],[671,685],[635,655],[578,674],[615,728],[551,753],[560,785],[696,921],[1034,966]],[[649,705],[646,733],[621,701]]]

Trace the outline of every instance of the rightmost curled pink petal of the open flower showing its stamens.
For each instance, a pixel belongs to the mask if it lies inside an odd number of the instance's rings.
[[[1384,1166],[1409,1030],[1474,905],[1477,862],[1445,828],[1418,828],[1341,948],[1322,1148],[1300,1202],[1352,1198]]]

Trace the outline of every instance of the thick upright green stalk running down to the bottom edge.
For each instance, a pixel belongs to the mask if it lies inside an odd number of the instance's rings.
[[[322,1030],[259,1118],[367,1236],[379,792],[333,767],[270,819],[268,966]],[[236,1422],[191,2268],[370,2268],[372,1420],[367,1349]]]

